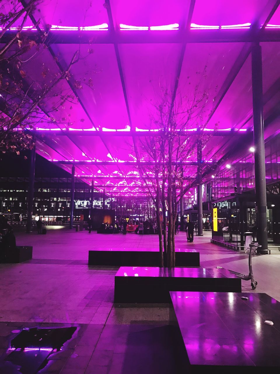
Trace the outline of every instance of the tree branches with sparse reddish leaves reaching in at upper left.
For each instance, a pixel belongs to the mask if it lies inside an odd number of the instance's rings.
[[[19,0],[1,1],[0,153],[19,154],[22,149],[32,148],[34,139],[28,130],[38,125],[73,125],[70,115],[66,118],[60,113],[66,104],[74,106],[78,102],[71,86],[63,85],[64,81],[71,81],[75,89],[92,86],[91,79],[77,81],[71,75],[72,65],[86,58],[81,56],[80,49],[62,70],[57,65],[59,56],[49,51],[47,32],[40,29],[40,19],[32,26],[27,24],[42,2],[30,0],[23,7]]]

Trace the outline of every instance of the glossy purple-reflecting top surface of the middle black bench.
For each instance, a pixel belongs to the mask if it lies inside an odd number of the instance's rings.
[[[169,278],[237,278],[225,269],[189,267],[132,267],[121,266],[116,277],[169,277]]]

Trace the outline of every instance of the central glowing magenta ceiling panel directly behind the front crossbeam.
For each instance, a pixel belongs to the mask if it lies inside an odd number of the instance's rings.
[[[162,90],[172,91],[181,45],[119,45],[133,128],[156,129],[152,123]]]

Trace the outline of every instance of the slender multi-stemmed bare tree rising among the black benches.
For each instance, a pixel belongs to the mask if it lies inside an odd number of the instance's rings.
[[[143,161],[149,161],[139,162],[138,169],[156,207],[160,266],[164,263],[175,266],[177,205],[197,180],[197,166],[193,165],[197,160],[197,144],[203,148],[209,141],[209,136],[203,134],[202,122],[207,101],[208,92],[201,91],[199,85],[189,95],[177,94],[176,100],[168,89],[162,89],[150,123],[150,130],[156,131],[156,136],[138,140]],[[192,130],[197,136],[187,135]]]

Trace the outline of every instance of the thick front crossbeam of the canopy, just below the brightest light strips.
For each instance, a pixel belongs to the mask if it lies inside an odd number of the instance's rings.
[[[29,39],[36,40],[34,33],[25,31]],[[7,31],[3,43],[11,40],[16,32]],[[279,29],[264,29],[261,34],[253,30],[189,30],[187,36],[181,30],[171,31],[49,31],[45,43],[52,44],[176,44],[176,43],[252,43],[280,42]]]

